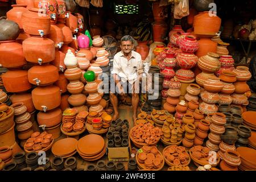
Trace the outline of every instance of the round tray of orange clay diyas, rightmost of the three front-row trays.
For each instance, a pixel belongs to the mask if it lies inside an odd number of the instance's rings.
[[[216,153],[216,161],[211,161],[211,159],[214,159],[214,156],[209,155],[209,152],[210,149],[208,147],[193,146],[189,150],[189,155],[197,167],[204,166],[209,163],[212,167],[215,167],[220,162],[220,156]]]

